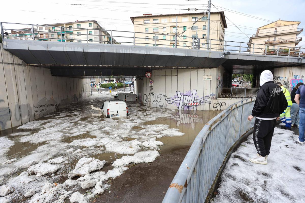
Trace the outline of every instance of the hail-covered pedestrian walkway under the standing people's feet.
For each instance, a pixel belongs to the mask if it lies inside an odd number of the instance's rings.
[[[211,202],[304,202],[305,145],[296,142],[298,128],[292,129],[274,128],[267,165],[249,161],[257,154],[250,135],[232,153]]]

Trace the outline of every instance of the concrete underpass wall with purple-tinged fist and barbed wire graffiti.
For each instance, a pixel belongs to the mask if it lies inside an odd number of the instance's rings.
[[[213,104],[216,102],[216,88],[223,86],[223,75],[224,68],[222,66],[218,68],[153,70],[150,79],[144,77],[135,81],[135,91],[145,106],[217,110],[217,108],[213,108]],[[210,76],[211,80],[204,79],[204,76]],[[153,80],[152,87],[149,86],[150,80]],[[189,104],[197,102],[201,102],[201,104]]]

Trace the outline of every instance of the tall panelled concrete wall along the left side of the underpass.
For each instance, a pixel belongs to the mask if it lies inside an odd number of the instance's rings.
[[[33,121],[89,95],[90,79],[52,76],[0,44],[0,130]]]

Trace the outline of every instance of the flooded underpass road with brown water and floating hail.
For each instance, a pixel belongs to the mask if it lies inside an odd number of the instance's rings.
[[[160,202],[196,135],[219,112],[127,103],[128,117],[104,118],[99,107],[114,95],[94,92],[1,131],[0,184],[8,194],[0,201]]]

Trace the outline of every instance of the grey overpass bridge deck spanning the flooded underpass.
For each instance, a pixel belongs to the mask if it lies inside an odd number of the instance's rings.
[[[85,44],[7,40],[3,48],[28,65],[50,68],[52,75],[92,77],[144,76],[148,70],[215,68],[230,73],[260,73],[265,69],[305,65],[305,58],[224,51],[145,47],[118,44]]]

